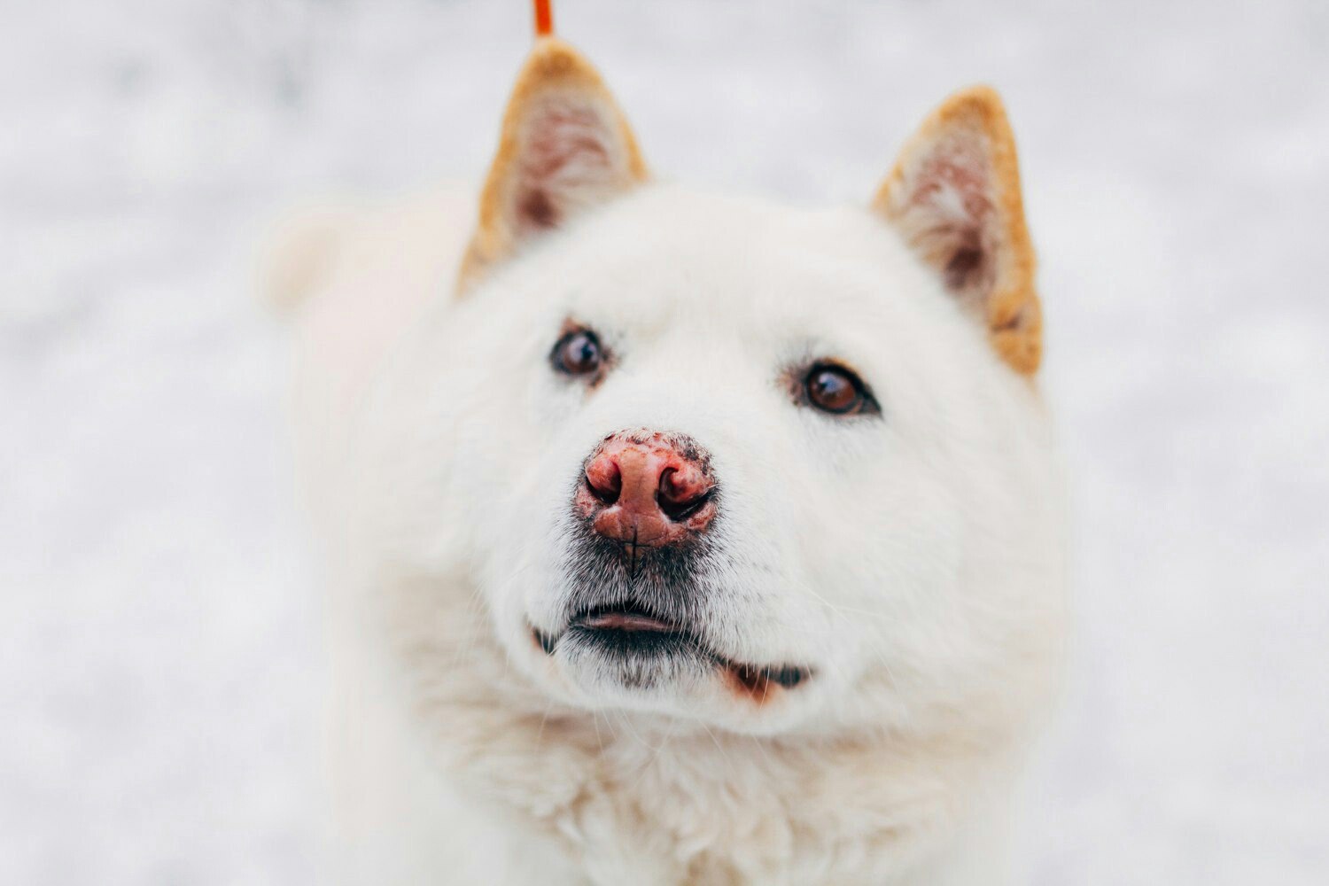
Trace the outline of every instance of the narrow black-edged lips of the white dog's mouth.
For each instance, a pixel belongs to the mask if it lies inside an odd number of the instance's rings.
[[[611,655],[664,655],[690,651],[710,659],[744,689],[760,693],[763,697],[772,683],[792,689],[812,676],[812,668],[796,664],[760,665],[731,662],[707,648],[687,628],[633,604],[598,606],[578,612],[569,620],[567,628],[557,636],[532,628],[532,635],[546,655],[553,655],[560,640],[569,634],[577,634]]]

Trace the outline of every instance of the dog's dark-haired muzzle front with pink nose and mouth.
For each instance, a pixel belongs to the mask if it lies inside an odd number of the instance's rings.
[[[571,519],[566,619],[554,632],[533,630],[545,654],[641,689],[719,671],[760,701],[811,676],[799,665],[732,662],[707,642],[722,494],[691,437],[638,429],[602,440],[582,465]]]

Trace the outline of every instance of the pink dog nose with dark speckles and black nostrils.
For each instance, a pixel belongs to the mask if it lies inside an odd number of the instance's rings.
[[[597,533],[627,545],[668,545],[715,517],[707,460],[682,434],[611,434],[586,462],[585,480],[578,511]]]

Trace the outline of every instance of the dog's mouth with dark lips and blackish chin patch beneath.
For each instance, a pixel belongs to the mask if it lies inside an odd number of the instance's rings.
[[[760,704],[812,677],[812,668],[799,664],[734,662],[710,648],[695,631],[637,603],[591,607],[573,615],[560,634],[533,627],[532,636],[545,655],[570,650],[573,655],[593,656],[597,664],[617,667],[621,681],[630,688],[649,688],[682,667],[696,665],[719,671],[736,693]]]

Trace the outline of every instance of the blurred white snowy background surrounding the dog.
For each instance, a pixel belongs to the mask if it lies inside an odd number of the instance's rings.
[[[1329,5],[558,0],[653,165],[861,201],[1005,93],[1076,510],[1042,886],[1329,882]],[[0,0],[0,882],[307,883],[288,202],[478,175],[525,0]]]

